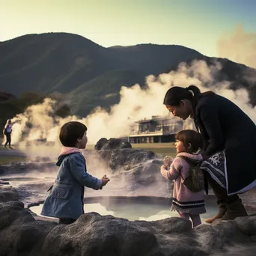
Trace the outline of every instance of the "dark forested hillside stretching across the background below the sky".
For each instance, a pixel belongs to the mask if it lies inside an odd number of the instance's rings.
[[[0,91],[20,97],[30,91],[55,92],[71,98],[73,112],[85,116],[95,106],[118,103],[122,85],[144,85],[144,77],[174,70],[193,59],[215,61],[184,46],[141,44],[105,48],[76,34],[28,34],[0,42]],[[255,84],[244,79],[255,70],[232,61],[223,65],[219,78],[242,84],[256,96]],[[252,98],[252,97],[251,97]],[[255,100],[252,100],[256,104]]]

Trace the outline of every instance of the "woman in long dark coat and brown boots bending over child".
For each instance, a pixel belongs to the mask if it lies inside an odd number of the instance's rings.
[[[174,116],[193,118],[204,139],[201,168],[219,204],[219,213],[206,222],[247,216],[237,194],[256,186],[254,122],[230,100],[195,85],[170,88],[164,104]]]

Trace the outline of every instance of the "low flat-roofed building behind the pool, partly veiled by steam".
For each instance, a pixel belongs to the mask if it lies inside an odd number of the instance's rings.
[[[167,116],[152,116],[136,121],[135,128],[128,136],[130,143],[161,143],[175,141],[175,134],[181,129],[195,129],[192,121]]]

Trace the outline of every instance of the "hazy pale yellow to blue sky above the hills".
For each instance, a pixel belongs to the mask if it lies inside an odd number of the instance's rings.
[[[237,25],[256,34],[256,0],[0,0],[0,41],[63,31],[102,46],[179,44],[218,56]]]

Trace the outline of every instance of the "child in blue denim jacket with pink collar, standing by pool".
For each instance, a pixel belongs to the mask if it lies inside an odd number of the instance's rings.
[[[64,147],[56,163],[60,168],[41,212],[43,216],[58,218],[59,224],[71,224],[84,213],[85,186],[102,189],[109,182],[106,175],[97,179],[86,170],[80,150],[85,149],[88,141],[86,131],[84,124],[75,121],[61,127],[59,138]]]

